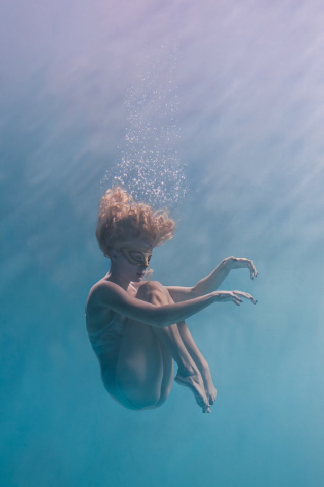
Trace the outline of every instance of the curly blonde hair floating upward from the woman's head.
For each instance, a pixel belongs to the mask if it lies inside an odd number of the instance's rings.
[[[122,188],[107,190],[100,199],[96,238],[105,257],[129,239],[161,245],[173,237],[174,227],[166,211],[154,212],[148,204],[135,203]]]

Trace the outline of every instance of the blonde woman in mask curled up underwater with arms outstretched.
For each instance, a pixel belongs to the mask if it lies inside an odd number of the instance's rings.
[[[175,381],[191,389],[199,407],[210,413],[217,391],[207,361],[198,350],[185,320],[213,302],[242,298],[241,291],[217,291],[231,269],[258,272],[252,261],[229,257],[194,287],[165,287],[143,281],[153,248],[172,238],[174,222],[164,212],[135,203],[121,188],[100,200],[96,237],[111,261],[109,272],[90,290],[87,331],[99,360],[106,390],[133,410],[154,409],[167,399]]]

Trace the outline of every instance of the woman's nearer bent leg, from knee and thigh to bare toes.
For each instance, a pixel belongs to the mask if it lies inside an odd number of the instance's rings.
[[[156,306],[173,302],[158,282],[143,283],[136,297]],[[116,383],[124,397],[138,409],[163,404],[172,387],[172,358],[179,368],[175,380],[192,390],[203,412],[210,412],[202,377],[176,324],[157,328],[128,320],[116,369]]]

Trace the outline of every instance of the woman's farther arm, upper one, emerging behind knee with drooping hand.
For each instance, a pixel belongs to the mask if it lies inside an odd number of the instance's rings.
[[[192,299],[216,291],[232,269],[248,269],[250,278],[258,276],[258,271],[253,261],[245,258],[227,257],[208,276],[201,279],[193,287],[168,286],[167,289],[175,302]]]

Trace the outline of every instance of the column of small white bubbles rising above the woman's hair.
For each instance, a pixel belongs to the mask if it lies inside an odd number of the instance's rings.
[[[125,104],[127,127],[121,159],[106,171],[105,181],[124,187],[137,201],[154,208],[175,208],[188,191],[186,166],[176,156],[176,57],[159,64],[149,60],[131,86]]]

